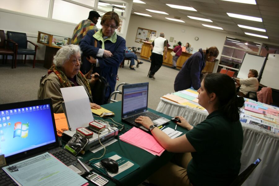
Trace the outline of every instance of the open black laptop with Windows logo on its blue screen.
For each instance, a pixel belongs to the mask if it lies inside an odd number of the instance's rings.
[[[59,147],[51,99],[0,105],[0,155],[5,155],[7,165],[45,152],[78,168],[79,175],[87,174],[76,157]]]

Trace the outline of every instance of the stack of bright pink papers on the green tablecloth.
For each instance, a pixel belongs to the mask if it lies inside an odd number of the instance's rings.
[[[119,136],[119,139],[136,147],[142,148],[147,152],[161,156],[165,149],[157,142],[157,140],[139,128],[133,127],[126,133]]]

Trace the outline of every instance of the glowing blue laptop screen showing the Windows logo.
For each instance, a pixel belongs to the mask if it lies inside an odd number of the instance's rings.
[[[0,105],[0,154],[29,155],[42,146],[53,146],[57,140],[53,121],[51,100]]]

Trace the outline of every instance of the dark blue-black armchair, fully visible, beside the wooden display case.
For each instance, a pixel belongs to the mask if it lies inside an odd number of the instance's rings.
[[[7,31],[8,39],[18,44],[15,49],[15,68],[16,68],[16,57],[17,55],[24,55],[24,64],[26,63],[26,56],[27,55],[34,55],[33,58],[33,68],[35,67],[35,61],[36,61],[36,53],[37,53],[37,47],[35,43],[28,41],[26,33],[20,33],[20,32],[11,32]],[[27,48],[27,43],[30,42],[35,46],[35,50]],[[9,45],[9,48],[11,45]]]

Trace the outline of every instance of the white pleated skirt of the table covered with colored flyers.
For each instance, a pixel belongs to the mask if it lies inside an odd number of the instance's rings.
[[[207,111],[177,104],[164,98],[161,98],[156,111],[171,117],[183,116],[194,126],[204,121],[208,115]],[[258,157],[262,159],[252,174],[243,183],[243,186],[279,186],[279,136],[250,124],[241,124],[244,139],[241,151],[240,173]]]

